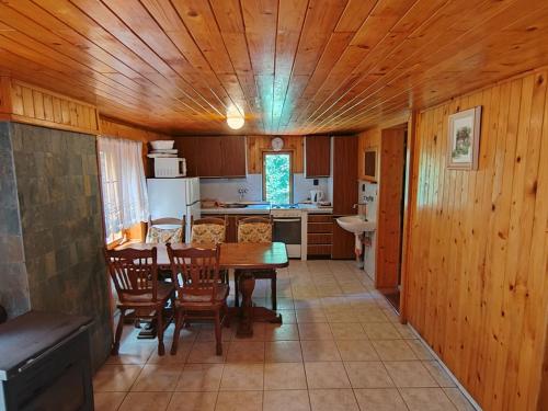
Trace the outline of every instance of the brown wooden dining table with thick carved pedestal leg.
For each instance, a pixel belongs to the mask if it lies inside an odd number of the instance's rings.
[[[157,264],[160,270],[171,270],[171,263],[165,244],[147,242],[128,242],[117,249],[132,248],[135,250],[157,249]],[[214,248],[215,246],[193,243],[171,243],[175,250],[189,248]],[[242,270],[239,276],[239,289],[242,295],[240,307],[230,307],[232,316],[239,317],[236,335],[249,338],[253,335],[253,322],[282,323],[282,315],[266,307],[253,304],[252,296],[255,288],[253,271],[276,270],[289,265],[287,249],[283,242],[226,242],[220,244],[220,270]]]

